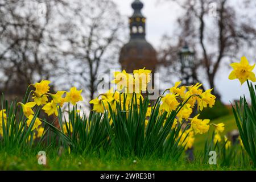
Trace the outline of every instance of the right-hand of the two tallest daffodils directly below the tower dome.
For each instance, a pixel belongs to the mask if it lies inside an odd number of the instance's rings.
[[[133,71],[135,82],[135,93],[141,93],[141,91],[147,91],[147,84],[151,81],[150,73],[152,71],[148,69],[138,69]]]

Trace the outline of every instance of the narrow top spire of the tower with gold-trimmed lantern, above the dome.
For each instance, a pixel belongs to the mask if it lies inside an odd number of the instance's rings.
[[[133,15],[129,18],[131,39],[145,39],[146,18],[142,15],[143,3],[135,0],[131,7],[134,9]]]

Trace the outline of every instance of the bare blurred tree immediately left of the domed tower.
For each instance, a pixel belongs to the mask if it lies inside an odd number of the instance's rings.
[[[97,79],[100,73],[119,67],[123,21],[115,3],[109,0],[72,1],[71,6],[73,12],[65,15],[60,25],[65,43],[64,80],[84,88],[86,98],[92,100],[102,81]]]

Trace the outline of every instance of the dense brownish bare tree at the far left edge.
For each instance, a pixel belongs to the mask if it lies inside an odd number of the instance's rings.
[[[0,1],[0,90],[23,96],[31,82],[48,79],[56,65],[53,7],[61,1]]]

